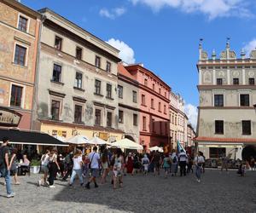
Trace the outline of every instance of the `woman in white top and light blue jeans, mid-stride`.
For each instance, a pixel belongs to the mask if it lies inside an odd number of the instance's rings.
[[[81,187],[83,186],[84,180],[82,176],[82,166],[83,166],[82,151],[78,149],[73,157],[73,171],[70,178],[69,187],[73,186],[73,180],[76,175],[79,176]]]

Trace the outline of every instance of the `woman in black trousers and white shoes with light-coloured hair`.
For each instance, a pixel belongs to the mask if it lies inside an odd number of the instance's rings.
[[[57,161],[57,150],[53,149],[51,151],[51,153],[49,154],[49,187],[55,187],[54,186],[54,181],[55,181],[55,176],[58,172],[58,170],[60,170],[60,166],[58,164]]]

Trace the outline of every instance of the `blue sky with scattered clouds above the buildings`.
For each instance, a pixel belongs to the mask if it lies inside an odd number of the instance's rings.
[[[48,7],[122,49],[124,60],[143,62],[181,94],[195,123],[199,39],[217,55],[230,37],[231,49],[256,47],[255,0],[21,0]],[[119,40],[119,41],[117,41]],[[127,45],[126,45],[127,44]],[[129,47],[130,48],[129,48]],[[134,55],[132,55],[134,53]],[[195,106],[195,107],[193,107]],[[193,119],[191,117],[191,119]]]

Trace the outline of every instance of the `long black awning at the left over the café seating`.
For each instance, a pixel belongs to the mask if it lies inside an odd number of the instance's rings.
[[[10,144],[68,147],[66,143],[63,143],[55,137],[38,131],[0,129],[1,143],[3,142],[3,137],[8,137]]]

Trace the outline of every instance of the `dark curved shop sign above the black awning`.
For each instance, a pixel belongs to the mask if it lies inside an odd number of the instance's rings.
[[[0,107],[0,125],[1,126],[13,126],[16,127],[20,123],[22,115],[13,110],[9,110],[4,107]]]

